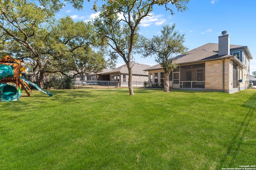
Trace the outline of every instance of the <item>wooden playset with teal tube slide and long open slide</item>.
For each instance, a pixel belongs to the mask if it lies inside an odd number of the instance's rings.
[[[21,76],[21,72],[25,72],[25,68],[22,67],[21,61],[13,59],[9,55],[0,59],[0,98],[1,102],[17,101],[22,97],[21,89],[24,89],[27,96],[30,96],[32,90],[27,84],[31,84],[39,91],[52,96],[51,93],[42,90],[39,86],[26,80]],[[7,83],[15,83],[15,86],[11,86]]]

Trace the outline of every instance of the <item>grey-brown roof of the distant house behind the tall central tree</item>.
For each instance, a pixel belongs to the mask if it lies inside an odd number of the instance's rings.
[[[132,61],[132,64],[133,64],[133,67],[132,67],[132,74],[135,74],[135,75],[148,75],[148,72],[147,71],[144,71],[146,70],[147,68],[150,68],[151,66],[150,65],[147,65],[147,64],[139,64],[139,63],[136,63],[134,61]],[[113,70],[109,71],[109,72],[104,72],[102,74],[111,74],[111,73],[116,73],[116,72],[120,72],[121,74],[128,74],[128,68],[126,66],[126,64],[118,67],[118,68],[114,68]]]

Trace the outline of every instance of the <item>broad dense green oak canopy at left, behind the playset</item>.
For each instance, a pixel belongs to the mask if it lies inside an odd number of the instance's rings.
[[[68,0],[81,9],[81,0]],[[76,71],[76,74],[102,70],[106,61],[95,52],[94,26],[70,17],[56,21],[54,14],[64,6],[62,1],[0,1],[0,54],[8,53],[30,62],[39,74],[43,87],[45,73]],[[73,77],[74,77],[73,75]]]

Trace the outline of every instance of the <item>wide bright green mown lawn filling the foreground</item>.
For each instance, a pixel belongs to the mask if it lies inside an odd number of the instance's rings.
[[[34,91],[0,102],[1,170],[256,165],[256,91]]]

